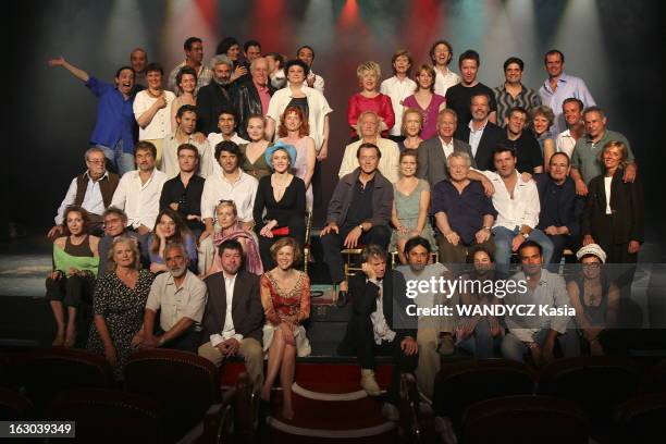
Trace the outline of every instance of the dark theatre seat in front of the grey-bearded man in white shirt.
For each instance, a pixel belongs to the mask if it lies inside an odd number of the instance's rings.
[[[220,403],[218,368],[188,351],[138,351],[124,369],[125,390],[159,402],[166,411],[169,434],[177,441]]]

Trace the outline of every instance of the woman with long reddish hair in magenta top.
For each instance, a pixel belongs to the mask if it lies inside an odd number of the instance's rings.
[[[417,88],[414,95],[407,97],[405,108],[416,108],[423,115],[421,138],[428,140],[437,133],[437,114],[446,108],[444,96],[434,94],[435,72],[432,66],[423,64],[417,71]]]

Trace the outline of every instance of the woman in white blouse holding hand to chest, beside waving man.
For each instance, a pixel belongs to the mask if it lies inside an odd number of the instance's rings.
[[[175,95],[162,87],[164,70],[158,63],[146,66],[148,88],[134,98],[134,119],[139,126],[139,140],[157,148],[156,165],[162,163],[162,139],[171,134],[171,106]]]

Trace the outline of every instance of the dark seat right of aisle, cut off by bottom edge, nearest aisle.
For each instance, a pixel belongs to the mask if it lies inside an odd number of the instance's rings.
[[[570,400],[506,396],[470,406],[461,436],[464,444],[588,444],[589,425],[583,411]]]

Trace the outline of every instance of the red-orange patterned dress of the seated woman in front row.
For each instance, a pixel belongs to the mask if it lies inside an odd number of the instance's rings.
[[[296,354],[303,357],[312,351],[303,326],[303,322],[310,317],[310,278],[303,271],[297,271],[297,273],[296,284],[288,291],[280,288],[270,271],[263,273],[259,281],[261,305],[267,320],[263,325],[264,351],[268,351],[271,346],[273,334],[283,319],[288,319],[297,325],[294,330]]]

